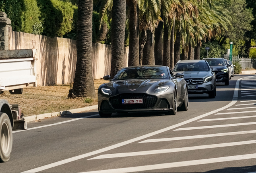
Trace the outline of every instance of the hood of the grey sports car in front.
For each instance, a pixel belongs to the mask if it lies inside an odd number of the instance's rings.
[[[115,80],[102,84],[100,88],[106,87],[111,89],[114,95],[121,93],[146,93],[149,89],[150,91],[155,91],[156,88],[165,84],[168,85],[169,82],[169,79]]]

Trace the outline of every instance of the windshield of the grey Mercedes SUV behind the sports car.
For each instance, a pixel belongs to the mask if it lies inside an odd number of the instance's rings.
[[[209,71],[209,67],[206,62],[178,63],[174,71]]]

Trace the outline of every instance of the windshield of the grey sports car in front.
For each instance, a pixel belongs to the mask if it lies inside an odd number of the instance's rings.
[[[138,78],[169,78],[165,67],[134,67],[123,68],[118,72],[114,80],[138,79]]]

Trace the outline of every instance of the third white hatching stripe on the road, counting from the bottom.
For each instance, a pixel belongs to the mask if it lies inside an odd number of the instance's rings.
[[[160,139],[147,139],[147,140],[141,141],[139,143],[178,141],[178,140],[185,140],[185,139],[199,139],[199,138],[220,137],[220,136],[229,136],[229,135],[244,135],[244,134],[250,134],[250,133],[256,133],[256,130],[215,133],[215,134],[208,134],[208,135],[194,135],[194,136],[184,136],[184,137],[160,138]]]

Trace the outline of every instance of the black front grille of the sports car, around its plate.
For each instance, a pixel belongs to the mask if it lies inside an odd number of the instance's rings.
[[[122,104],[122,99],[143,99],[143,104],[124,105]],[[156,96],[144,93],[120,94],[109,98],[109,103],[114,107],[114,109],[148,109],[154,107],[156,102]]]

